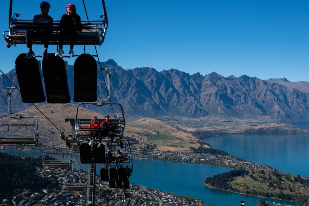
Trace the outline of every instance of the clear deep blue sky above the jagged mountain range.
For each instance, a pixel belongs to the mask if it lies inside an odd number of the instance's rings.
[[[13,0],[19,19],[32,19],[41,1]],[[49,15],[60,19],[74,3],[86,20],[83,2],[51,0]],[[309,1],[286,0],[105,0],[109,27],[98,49],[100,61],[114,59],[124,69],[179,69],[189,74],[216,72],[222,76],[247,74],[261,79],[286,77],[309,81]],[[85,0],[89,19],[103,13],[101,1]],[[8,30],[9,0],[1,4],[1,28]],[[93,46],[87,53],[95,54]],[[6,48],[1,41],[0,69],[14,68],[26,45]],[[33,46],[38,55],[42,45]],[[64,45],[64,51],[69,46]],[[83,46],[74,47],[76,54]],[[56,46],[50,45],[55,53]],[[73,64],[76,57],[67,59]]]

